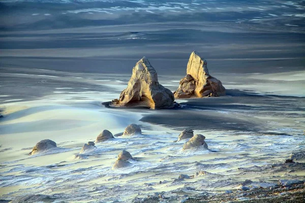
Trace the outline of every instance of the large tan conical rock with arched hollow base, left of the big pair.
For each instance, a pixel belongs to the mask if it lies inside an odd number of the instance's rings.
[[[157,72],[143,57],[134,66],[127,88],[110,106],[162,109],[174,107],[174,100],[173,93],[159,84]]]

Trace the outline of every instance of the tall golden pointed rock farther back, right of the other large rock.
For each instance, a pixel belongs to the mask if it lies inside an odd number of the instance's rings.
[[[201,58],[196,51],[192,52],[187,66],[187,75],[180,80],[179,84],[177,91],[174,92],[175,98],[226,94],[226,89],[221,81],[209,75],[206,60]]]

